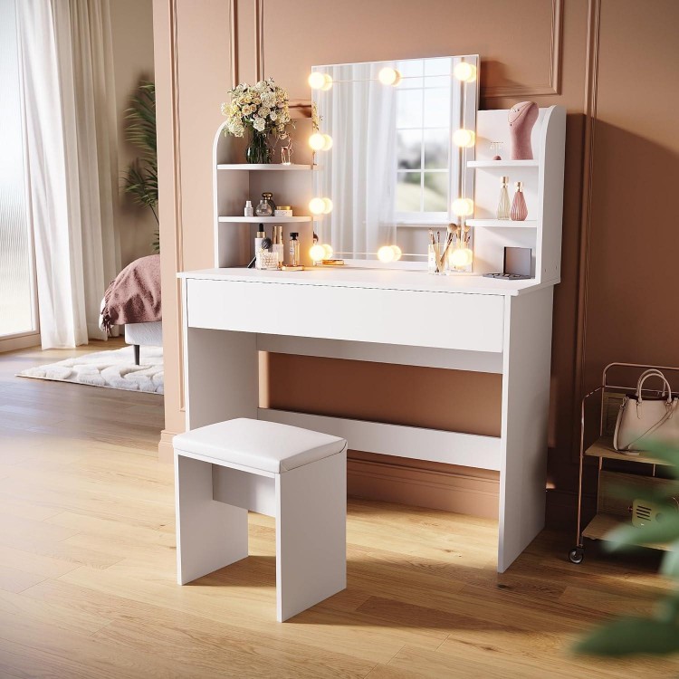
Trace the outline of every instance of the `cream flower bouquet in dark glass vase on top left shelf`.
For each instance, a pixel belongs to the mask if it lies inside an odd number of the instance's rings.
[[[273,78],[254,85],[242,82],[229,91],[231,101],[222,104],[226,116],[226,135],[244,137],[248,133],[245,160],[248,163],[270,163],[272,148],[269,137],[287,139],[293,126],[288,106],[288,91],[276,85]]]

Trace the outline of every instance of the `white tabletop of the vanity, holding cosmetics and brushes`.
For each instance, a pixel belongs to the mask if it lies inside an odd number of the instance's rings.
[[[376,269],[354,266],[311,267],[301,272],[258,271],[257,269],[203,269],[177,273],[179,278],[215,281],[264,282],[293,285],[328,285],[332,287],[378,288],[416,292],[462,292],[515,296],[556,285],[559,279],[536,283],[502,281],[478,274],[435,276],[424,271],[407,269]]]

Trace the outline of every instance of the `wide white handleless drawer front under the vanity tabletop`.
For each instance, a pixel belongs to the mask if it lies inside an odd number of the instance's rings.
[[[186,279],[192,328],[502,351],[504,297]]]

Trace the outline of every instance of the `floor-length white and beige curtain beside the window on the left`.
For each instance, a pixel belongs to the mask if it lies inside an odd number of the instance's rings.
[[[16,6],[43,349],[74,347],[104,337],[100,299],[120,270],[109,4]]]

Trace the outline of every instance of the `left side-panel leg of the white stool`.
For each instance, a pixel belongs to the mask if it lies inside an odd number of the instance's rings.
[[[247,556],[247,510],[213,500],[212,464],[175,453],[177,582]]]

